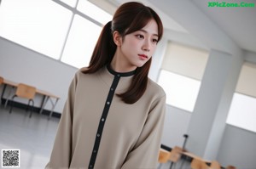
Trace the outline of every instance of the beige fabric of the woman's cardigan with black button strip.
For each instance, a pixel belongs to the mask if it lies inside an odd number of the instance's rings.
[[[76,73],[46,168],[88,168],[113,75],[106,67],[94,74]],[[123,93],[132,76],[121,76],[115,93]],[[97,149],[96,169],[155,168],[165,118],[166,94],[148,80],[143,97],[125,104],[113,95]]]

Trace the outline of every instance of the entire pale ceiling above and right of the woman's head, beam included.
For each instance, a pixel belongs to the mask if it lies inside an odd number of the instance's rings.
[[[93,0],[91,0],[93,1]],[[96,1],[96,0],[95,0]],[[97,1],[99,2],[99,1]],[[117,7],[127,0],[105,0]],[[254,8],[208,7],[209,0],[141,0],[154,8],[171,41],[198,48],[232,53],[241,49],[256,53],[256,0]],[[239,0],[219,2],[241,3]]]

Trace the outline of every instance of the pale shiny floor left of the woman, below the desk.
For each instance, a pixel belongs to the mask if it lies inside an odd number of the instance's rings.
[[[54,143],[59,118],[0,106],[0,149],[20,149],[20,168],[44,168]],[[2,166],[2,155],[0,167]]]

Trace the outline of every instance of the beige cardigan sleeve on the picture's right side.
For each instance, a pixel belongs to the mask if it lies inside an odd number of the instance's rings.
[[[166,95],[155,101],[137,144],[127,155],[122,169],[152,169],[158,164],[160,141],[166,115]]]

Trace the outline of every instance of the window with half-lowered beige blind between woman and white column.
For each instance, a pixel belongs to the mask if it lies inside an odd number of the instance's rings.
[[[166,92],[166,104],[194,110],[207,59],[205,50],[168,43],[158,80]]]

